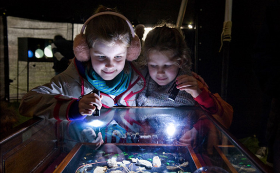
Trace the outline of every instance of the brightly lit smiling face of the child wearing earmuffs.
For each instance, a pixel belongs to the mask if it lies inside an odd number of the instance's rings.
[[[127,48],[116,44],[108,46],[96,41],[91,48],[93,70],[104,80],[112,80],[125,66]]]

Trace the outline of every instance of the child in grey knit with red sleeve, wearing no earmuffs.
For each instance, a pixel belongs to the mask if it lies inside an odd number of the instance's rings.
[[[147,86],[137,99],[138,106],[199,105],[225,127],[230,126],[232,107],[218,94],[212,94],[204,81],[200,82],[199,77],[191,73],[189,50],[180,30],[170,24],[152,29],[145,39],[144,58],[149,73],[145,77]],[[172,86],[179,92],[168,99]],[[206,121],[205,116],[200,117],[189,133],[196,134],[199,126],[208,124]]]

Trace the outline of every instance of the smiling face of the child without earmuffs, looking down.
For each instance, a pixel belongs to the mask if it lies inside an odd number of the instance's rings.
[[[169,60],[171,51],[151,51],[149,53],[149,75],[159,85],[170,83],[177,76],[179,67],[175,61]]]

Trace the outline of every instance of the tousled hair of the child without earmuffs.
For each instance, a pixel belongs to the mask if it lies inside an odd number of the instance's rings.
[[[162,23],[154,27],[145,39],[144,61],[142,65],[149,62],[151,51],[171,51],[173,53],[169,60],[176,61],[181,70],[188,71],[191,68],[190,50],[185,42],[182,31],[173,24]]]

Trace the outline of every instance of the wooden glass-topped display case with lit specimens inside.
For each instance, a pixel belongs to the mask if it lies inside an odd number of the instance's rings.
[[[29,172],[193,173],[212,166],[226,173],[269,173],[215,116],[199,107],[102,108],[100,116],[77,121],[44,119],[40,123],[29,127],[34,132],[28,140],[10,145],[5,152],[2,144],[8,146],[19,134],[1,139],[1,155],[5,156],[1,172],[16,169],[5,164],[12,155],[21,153],[22,157],[30,152],[24,162],[28,164],[33,157],[38,161]],[[39,134],[47,137],[42,139]],[[23,152],[27,145],[40,148],[37,139],[53,154],[32,152],[32,148]]]

